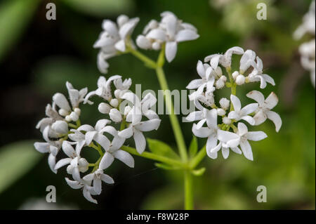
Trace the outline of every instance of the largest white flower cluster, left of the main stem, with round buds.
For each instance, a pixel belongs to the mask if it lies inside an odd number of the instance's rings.
[[[133,136],[138,153],[145,150],[145,137],[143,132],[157,130],[160,119],[150,109],[155,103],[154,95],[147,94],[140,100],[137,95],[129,91],[131,79],[121,79],[121,76],[114,75],[105,79],[98,79],[96,91],[88,93],[88,88],[80,91],[74,89],[72,84],[66,84],[70,103],[65,95],[56,93],[53,95],[52,105],[47,105],[46,116],[37,124],[37,129],[43,134],[45,142],[34,143],[39,152],[48,152],[48,164],[54,173],[67,165],[67,173],[72,178],[65,178],[67,184],[74,189],[83,190],[84,197],[93,203],[97,203],[91,195],[100,195],[102,182],[114,183],[114,180],[104,173],[114,159],[118,159],[129,167],[134,166],[134,159],[124,150],[121,150],[126,139]],[[115,90],[112,91],[112,86]],[[95,126],[89,124],[81,125],[79,116],[81,103],[92,105],[91,97],[98,95],[104,100],[98,105],[102,114],[108,115],[110,119],[100,119]],[[143,120],[145,117],[145,121]],[[114,125],[120,123],[117,130]],[[113,125],[111,125],[113,124]],[[89,163],[81,157],[81,151],[97,150],[100,157],[95,163]],[[56,162],[60,151],[65,158]],[[87,171],[90,171],[86,174]],[[85,173],[81,175],[81,173]]]

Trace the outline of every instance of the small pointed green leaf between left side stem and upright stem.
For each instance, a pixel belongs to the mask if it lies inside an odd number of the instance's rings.
[[[150,151],[154,154],[159,154],[164,157],[169,157],[172,159],[180,159],[178,154],[173,151],[173,149],[167,145],[166,143],[163,143],[160,140],[154,140],[151,138],[147,138],[148,147]]]

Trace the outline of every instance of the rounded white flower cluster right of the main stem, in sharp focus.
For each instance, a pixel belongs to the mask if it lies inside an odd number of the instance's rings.
[[[236,71],[232,71],[231,67],[233,54],[242,55],[239,70]],[[217,158],[221,149],[225,159],[232,150],[238,154],[243,153],[247,159],[253,160],[249,140],[258,141],[267,136],[263,131],[248,131],[242,121],[256,126],[268,118],[274,122],[276,131],[279,131],[282,125],[279,114],[271,111],[278,102],[275,93],[272,92],[265,98],[263,93],[251,91],[246,96],[256,103],[244,107],[236,96],[236,87],[250,82],[260,82],[261,88],[265,88],[267,83],[275,85],[272,77],[263,74],[261,58],[256,56],[254,51],[244,51],[235,46],[224,54],[207,56],[204,63],[197,62],[197,73],[200,79],[192,80],[187,85],[188,89],[196,89],[189,98],[195,103],[197,111],[191,112],[186,118],[188,121],[198,121],[197,124],[193,124],[192,132],[199,138],[207,138],[206,153],[212,159]],[[216,105],[213,93],[224,86],[232,88],[230,100],[221,98],[219,105]],[[220,124],[218,117],[221,120]]]

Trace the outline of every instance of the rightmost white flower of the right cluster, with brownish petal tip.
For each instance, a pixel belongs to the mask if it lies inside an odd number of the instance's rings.
[[[278,132],[282,126],[282,119],[279,114],[271,111],[273,107],[277,105],[279,99],[275,93],[270,93],[268,98],[265,99],[264,95],[259,91],[251,91],[247,93],[247,97],[256,100],[259,106],[256,110],[256,115],[254,116],[255,125],[262,124],[267,118],[273,121],[275,124],[275,130]]]

